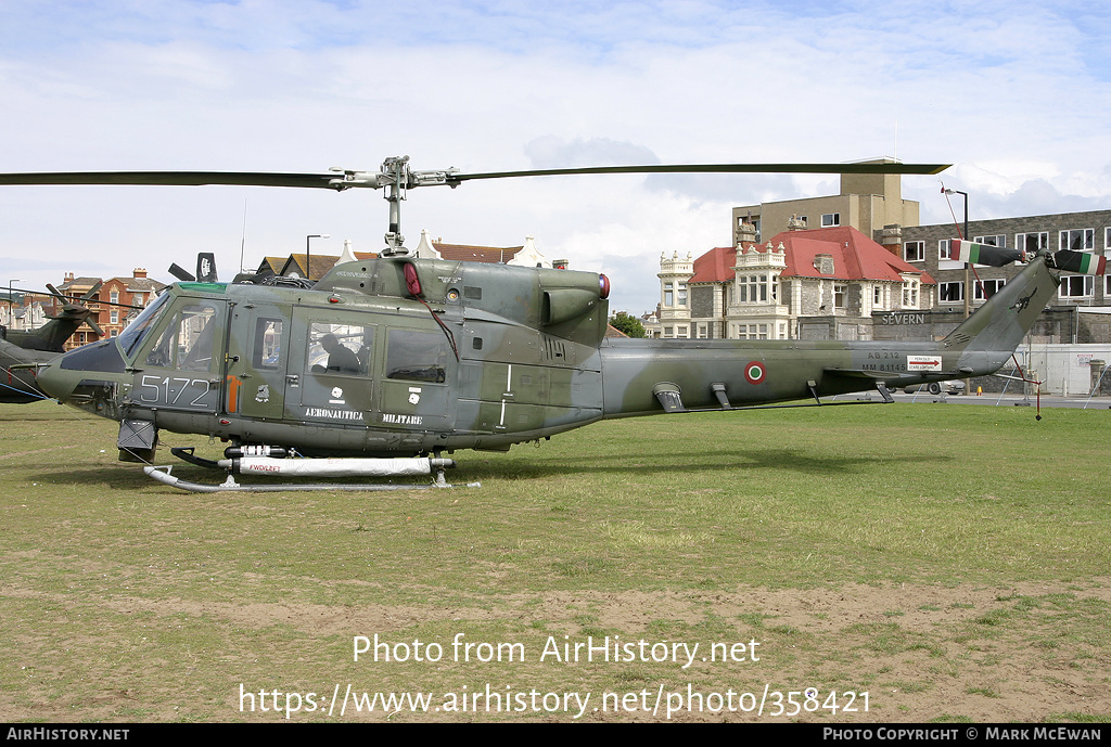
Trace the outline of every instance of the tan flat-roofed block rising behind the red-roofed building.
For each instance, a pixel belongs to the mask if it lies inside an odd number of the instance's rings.
[[[891,158],[863,163],[899,163]],[[792,223],[794,221],[794,223]],[[794,224],[804,229],[852,226],[874,236],[885,225],[918,225],[919,203],[902,199],[899,174],[841,174],[840,194],[802,200],[764,202],[733,208],[733,245],[741,241],[743,225],[752,225],[757,241],[787,231]]]

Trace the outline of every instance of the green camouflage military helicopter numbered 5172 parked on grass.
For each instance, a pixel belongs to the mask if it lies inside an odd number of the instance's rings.
[[[233,474],[351,476],[436,473],[444,453],[513,444],[613,417],[733,410],[987,375],[1011,356],[1057,291],[1062,270],[1091,272],[1077,252],[1027,255],[954,245],[981,264],[1029,264],[944,340],[811,342],[604,336],[605,275],[411,256],[400,232],[408,189],[469,180],[579,173],[938,173],[900,163],[599,166],[490,173],[324,174],[97,172],[0,174],[0,184],[251,184],[383,189],[386,250],[337,265],[314,284],[186,280],[116,339],[39,372],[51,396],[120,423],[124,461],[190,491],[290,489]],[[1083,264],[1083,266],[1081,266]],[[1102,271],[1102,267],[1100,269]],[[156,467],[160,430],[230,442],[224,460],[172,450],[227,471],[222,485]],[[427,485],[426,485],[427,486]],[[301,489],[371,489],[347,483]],[[414,487],[408,485],[404,487]]]

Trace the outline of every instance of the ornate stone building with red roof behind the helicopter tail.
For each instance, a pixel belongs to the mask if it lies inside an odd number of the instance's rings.
[[[660,258],[660,337],[870,340],[872,316],[929,307],[933,279],[851,226]],[[654,332],[654,331],[653,331]]]

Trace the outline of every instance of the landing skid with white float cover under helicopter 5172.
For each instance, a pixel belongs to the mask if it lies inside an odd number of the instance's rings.
[[[250,447],[253,448],[253,447]],[[266,447],[262,447],[266,448]],[[444,478],[444,470],[456,466],[453,460],[439,457],[406,458],[276,458],[272,456],[238,456],[220,461],[206,460],[193,455],[192,448],[174,448],[173,454],[191,464],[209,468],[227,470],[228,480],[220,485],[206,485],[174,477],[171,466],[147,466],[143,472],[150,477],[192,493],[218,493],[222,491],[240,493],[273,493],[279,491],[419,491],[430,487],[457,487]],[[256,452],[261,453],[261,452]],[[431,475],[433,482],[413,485],[394,483],[283,483],[267,485],[242,485],[233,475],[267,475],[271,477],[388,477],[400,475]],[[479,483],[468,483],[467,487],[479,487]]]

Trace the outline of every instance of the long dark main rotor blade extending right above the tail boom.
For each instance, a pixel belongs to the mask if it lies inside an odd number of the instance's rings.
[[[559,176],[568,174],[673,174],[673,173],[789,173],[789,174],[937,174],[949,163],[688,163],[635,166],[583,166],[579,169],[530,169],[478,174],[451,173],[448,183],[471,179]]]

